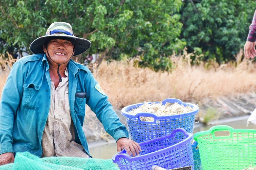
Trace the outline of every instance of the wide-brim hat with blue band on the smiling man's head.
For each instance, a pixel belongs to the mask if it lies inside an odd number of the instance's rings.
[[[46,35],[35,39],[30,44],[30,51],[34,54],[43,54],[43,45],[45,42],[50,41],[51,39],[64,39],[71,41],[75,45],[74,56],[77,56],[91,47],[91,42],[84,38],[75,37],[73,34],[72,27],[69,23],[66,22],[54,22],[47,29]]]

